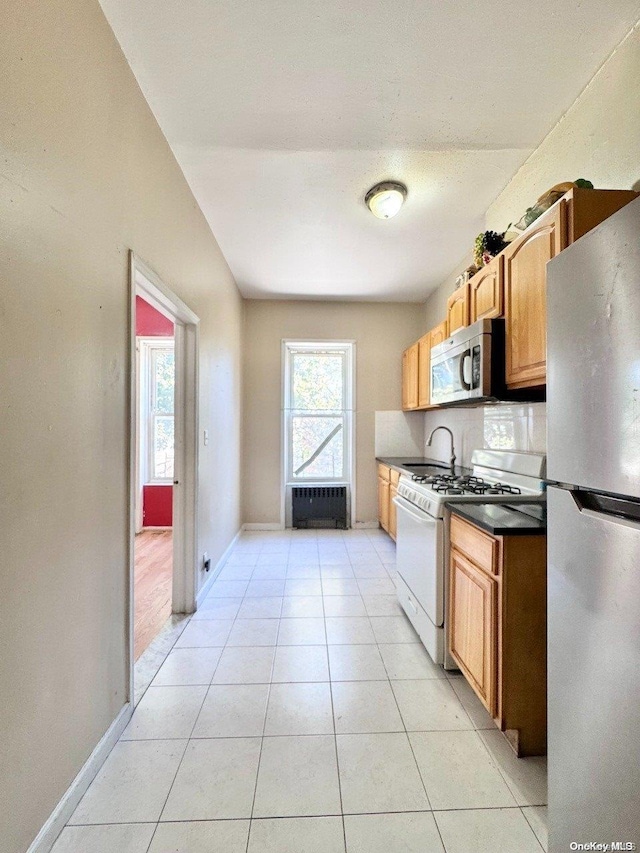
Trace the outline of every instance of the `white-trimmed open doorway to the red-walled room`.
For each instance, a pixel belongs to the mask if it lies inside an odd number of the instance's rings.
[[[130,255],[129,669],[197,588],[198,318]],[[151,648],[149,648],[151,646]],[[158,660],[159,668],[161,659]]]

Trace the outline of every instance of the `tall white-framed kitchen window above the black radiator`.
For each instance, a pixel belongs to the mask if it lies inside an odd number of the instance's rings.
[[[350,479],[352,350],[350,343],[285,343],[289,483]]]

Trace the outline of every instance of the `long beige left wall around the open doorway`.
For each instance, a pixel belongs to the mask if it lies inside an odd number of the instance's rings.
[[[128,249],[201,318],[214,563],[242,301],[97,0],[7,0],[0,42],[0,849],[24,853],[126,699]]]

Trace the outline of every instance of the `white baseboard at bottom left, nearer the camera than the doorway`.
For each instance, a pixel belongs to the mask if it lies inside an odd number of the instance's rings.
[[[130,702],[127,702],[99,740],[97,746],[85,761],[76,778],[67,788],[58,805],[49,815],[47,822],[32,841],[27,853],[50,853],[57,837],[69,822],[69,818],[74,813],[87,788],[93,782],[98,771],[106,761],[107,756],[118,742],[132,714],[133,707]]]

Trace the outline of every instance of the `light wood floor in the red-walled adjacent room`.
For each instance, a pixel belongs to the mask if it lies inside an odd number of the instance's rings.
[[[136,535],[134,577],[134,653],[138,660],[171,615],[171,530],[144,530]]]

